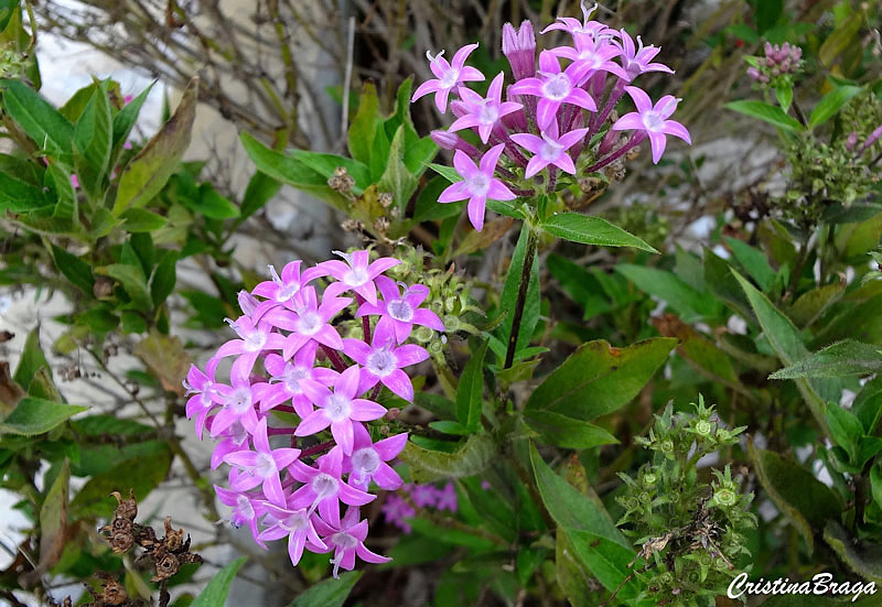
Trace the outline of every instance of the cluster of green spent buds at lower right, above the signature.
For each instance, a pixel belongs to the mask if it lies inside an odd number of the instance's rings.
[[[625,484],[616,499],[625,509],[623,532],[642,546],[633,570],[644,583],[641,598],[673,607],[704,607],[725,592],[750,555],[744,531],[756,525],[749,512],[752,495],[741,491],[729,466],[699,480],[696,464],[738,442],[743,427],[721,427],[713,407],[699,397],[693,414],[674,413],[670,404],[656,415],[646,438],[637,442],[653,460]],[[638,599],[639,601],[639,599]]]

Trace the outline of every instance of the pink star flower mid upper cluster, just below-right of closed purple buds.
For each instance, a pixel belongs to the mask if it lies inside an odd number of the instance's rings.
[[[571,63],[567,69],[560,71],[560,62],[551,51],[539,53],[539,75],[541,78],[524,78],[512,85],[513,95],[533,95],[539,97],[536,107],[536,121],[545,130],[555,120],[562,104],[571,104],[589,111],[596,111],[594,99],[579,88],[579,83],[587,68],[580,63]]]

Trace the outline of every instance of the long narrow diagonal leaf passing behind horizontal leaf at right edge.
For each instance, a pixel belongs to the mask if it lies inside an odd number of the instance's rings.
[[[797,360],[808,357],[808,349],[803,344],[799,330],[793,325],[789,318],[777,310],[768,299],[760,293],[746,279],[732,270],[735,279],[741,284],[747,295],[751,307],[760,321],[763,332],[775,350],[777,357],[785,365],[794,365]],[[825,434],[829,433],[827,420],[824,412],[825,402],[838,398],[833,395],[835,387],[822,383],[820,380],[795,379],[799,392],[806,400],[811,413]]]

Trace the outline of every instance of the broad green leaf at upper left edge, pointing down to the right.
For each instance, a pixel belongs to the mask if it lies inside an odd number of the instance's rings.
[[[21,80],[0,80],[3,108],[40,150],[72,164],[74,127],[52,105]]]

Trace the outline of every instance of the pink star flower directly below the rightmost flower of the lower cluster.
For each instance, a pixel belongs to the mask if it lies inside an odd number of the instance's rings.
[[[361,370],[358,392],[369,390],[377,382],[383,382],[386,388],[406,401],[413,402],[413,384],[401,369],[429,358],[426,348],[416,344],[396,348],[395,333],[391,326],[377,324],[370,346],[361,339],[344,339],[343,351],[364,366]]]

